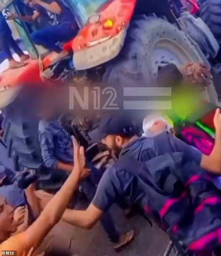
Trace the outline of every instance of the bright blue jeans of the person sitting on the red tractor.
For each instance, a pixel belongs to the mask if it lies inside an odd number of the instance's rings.
[[[71,23],[61,23],[56,26],[48,26],[32,33],[31,38],[37,45],[60,52],[61,47],[56,45],[58,42],[68,42],[77,35],[78,28],[73,28]]]

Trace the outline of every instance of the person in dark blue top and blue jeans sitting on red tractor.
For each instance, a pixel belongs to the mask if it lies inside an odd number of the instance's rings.
[[[62,51],[58,44],[74,38],[79,29],[71,10],[59,0],[24,0],[24,2],[35,10],[34,14],[32,16],[17,16],[14,13],[9,13],[8,18],[33,22],[40,16],[53,16],[53,25],[34,31],[31,38],[35,44],[43,45],[45,48],[65,56],[67,52]]]

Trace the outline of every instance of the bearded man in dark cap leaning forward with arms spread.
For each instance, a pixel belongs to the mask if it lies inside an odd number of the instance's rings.
[[[139,138],[135,134],[135,127],[130,118],[122,116],[105,118],[100,122],[99,127],[89,135],[93,140],[102,140],[119,156],[119,159],[126,155],[129,158],[145,161],[149,149],[154,152],[154,155],[149,155],[150,158],[177,151],[184,153],[187,161],[194,161],[209,172],[220,174],[221,114],[219,109],[216,110],[214,124],[216,142],[210,156],[203,155],[192,146],[167,132],[163,132],[154,138]],[[92,228],[100,219],[102,213],[107,211],[122,196],[128,196],[131,201],[142,206],[148,200],[137,181],[137,177],[127,171],[127,168],[119,168],[116,162],[105,171],[89,207],[85,211],[67,210],[63,215],[63,220],[72,225]]]

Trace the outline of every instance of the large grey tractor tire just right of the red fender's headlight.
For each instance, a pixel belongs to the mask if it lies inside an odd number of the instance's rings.
[[[188,61],[208,64],[199,46],[175,25],[157,17],[137,16],[120,54],[106,64],[104,81],[121,87],[153,87],[159,66]]]

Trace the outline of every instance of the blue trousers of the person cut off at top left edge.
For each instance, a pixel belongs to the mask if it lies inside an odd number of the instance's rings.
[[[23,52],[12,37],[12,33],[3,33],[1,35],[1,47],[2,51],[5,52],[7,59],[13,59],[11,49],[14,50],[18,56],[22,56]]]

